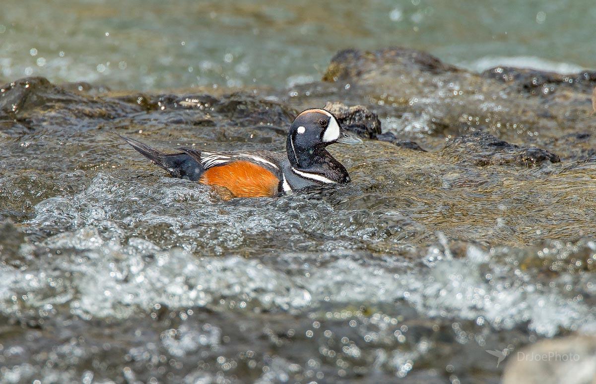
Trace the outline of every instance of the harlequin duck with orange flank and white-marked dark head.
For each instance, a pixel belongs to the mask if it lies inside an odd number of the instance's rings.
[[[327,151],[334,143],[360,144],[333,114],[307,109],[291,123],[285,152],[204,151],[178,148],[166,154],[128,137],[122,137],[157,166],[178,178],[225,187],[235,197],[275,197],[311,185],[350,182],[346,168]]]

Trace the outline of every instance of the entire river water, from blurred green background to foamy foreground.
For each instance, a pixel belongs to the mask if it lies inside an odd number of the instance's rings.
[[[593,3],[6,4],[1,78],[93,86],[3,87],[1,383],[498,383],[486,350],[596,332],[596,76],[318,81],[390,45],[579,71]],[[351,184],[224,200],[114,135],[282,150],[338,100],[428,151],[334,145]]]

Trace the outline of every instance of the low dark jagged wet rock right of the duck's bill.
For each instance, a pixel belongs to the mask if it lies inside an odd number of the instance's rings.
[[[477,166],[532,166],[545,161],[560,162],[559,157],[550,151],[510,144],[484,132],[457,137],[446,144],[440,154],[455,162],[467,162]]]

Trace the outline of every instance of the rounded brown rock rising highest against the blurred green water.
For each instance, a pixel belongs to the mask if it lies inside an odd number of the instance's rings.
[[[433,55],[410,48],[386,48],[374,52],[346,49],[331,58],[323,81],[362,78],[376,72],[395,70],[395,67],[400,67],[403,71],[418,70],[429,73],[459,70]]]

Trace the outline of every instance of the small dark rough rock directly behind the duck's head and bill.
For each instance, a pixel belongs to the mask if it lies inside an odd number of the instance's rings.
[[[365,106],[349,107],[336,101],[328,102],[323,108],[333,113],[343,128],[361,137],[374,139],[381,133],[381,121],[377,114]]]

